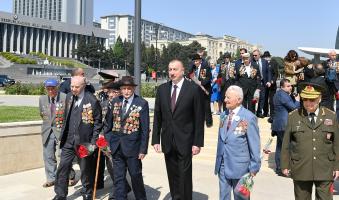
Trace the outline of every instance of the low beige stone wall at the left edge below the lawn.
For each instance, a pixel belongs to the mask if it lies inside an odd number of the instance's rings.
[[[41,121],[0,123],[0,175],[43,167]]]

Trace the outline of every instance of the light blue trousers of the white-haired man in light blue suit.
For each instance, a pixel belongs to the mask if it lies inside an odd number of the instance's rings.
[[[233,190],[234,200],[243,200],[243,198],[236,193],[234,189],[237,186],[239,179],[228,179],[225,176],[224,161],[221,161],[219,169],[219,200],[231,200],[231,191]],[[248,198],[249,200],[250,198]]]

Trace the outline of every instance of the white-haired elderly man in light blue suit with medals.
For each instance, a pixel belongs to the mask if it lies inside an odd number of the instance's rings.
[[[261,166],[260,136],[257,117],[244,108],[243,90],[231,85],[225,96],[229,114],[220,115],[218,148],[214,173],[219,176],[219,199],[230,200],[240,178],[255,176]],[[233,193],[235,200],[241,197]]]

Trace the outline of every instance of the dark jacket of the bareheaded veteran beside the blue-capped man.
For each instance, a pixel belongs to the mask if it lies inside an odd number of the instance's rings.
[[[66,96],[66,109],[64,112],[64,119],[65,119],[65,125],[62,127],[61,135],[60,135],[60,148],[63,147],[65,142],[67,141],[67,135],[68,135],[68,128],[69,128],[69,111],[71,108],[71,104],[73,101],[73,94],[68,93]],[[102,113],[101,113],[101,106],[97,98],[89,93],[85,92],[84,97],[81,101],[81,104],[79,106],[79,109],[81,109],[81,113],[84,112],[84,105],[90,105],[92,110],[92,117],[93,117],[93,123],[82,120],[82,116],[79,115],[75,135],[74,135],[74,146],[77,146],[78,144],[82,143],[91,143],[95,144],[96,139],[98,138],[98,135],[100,133],[100,130],[102,128]],[[84,112],[85,113],[85,112]],[[89,113],[89,112],[86,112]]]

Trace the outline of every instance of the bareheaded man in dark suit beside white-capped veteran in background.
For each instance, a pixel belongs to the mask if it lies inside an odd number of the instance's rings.
[[[267,60],[260,58],[260,51],[255,49],[252,52],[253,65],[256,65],[260,71],[260,96],[257,109],[257,117],[264,118],[263,108],[265,107],[266,95],[268,95],[268,90],[271,87],[271,72]],[[268,113],[265,113],[266,116]]]

